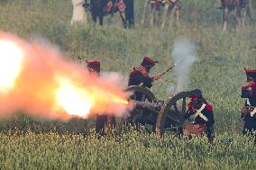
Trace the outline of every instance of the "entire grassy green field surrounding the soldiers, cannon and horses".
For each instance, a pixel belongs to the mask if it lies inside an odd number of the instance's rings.
[[[170,55],[174,41],[184,37],[193,40],[199,61],[191,69],[188,89],[202,89],[214,106],[216,133],[212,146],[207,145],[206,139],[168,136],[156,141],[153,134],[135,130],[119,131],[115,137],[109,134],[98,140],[89,133],[94,124],[91,120],[42,121],[19,114],[0,124],[0,169],[256,168],[255,147],[251,139],[242,137],[239,121],[243,104],[240,90],[246,78],[243,67],[256,67],[255,22],[236,32],[231,31],[229,24],[228,30],[222,31],[222,13],[216,9],[218,1],[180,0],[179,27],[174,23],[165,29],[149,25],[142,28],[142,1],[135,0],[133,30],[124,30],[117,14],[113,24],[106,18],[104,27],[94,26],[89,14],[87,26],[70,27],[71,1],[0,2],[1,30],[25,40],[43,37],[58,45],[74,62],[78,62],[78,56],[100,59],[102,70],[120,72],[123,76],[128,76],[144,56],[160,61],[151,74],[164,71],[173,64]],[[256,9],[256,4],[253,8]],[[162,77],[151,88],[153,94],[167,99],[171,94],[167,89],[176,84],[176,78],[173,72]],[[81,130],[89,135],[71,135]]]

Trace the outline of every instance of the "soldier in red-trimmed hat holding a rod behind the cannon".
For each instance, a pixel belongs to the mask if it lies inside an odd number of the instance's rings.
[[[153,61],[151,58],[144,57],[140,67],[134,67],[130,73],[128,86],[141,85],[151,88],[152,82],[159,79],[160,76],[149,76],[150,70],[158,61]],[[142,101],[142,94],[135,94],[136,101]]]

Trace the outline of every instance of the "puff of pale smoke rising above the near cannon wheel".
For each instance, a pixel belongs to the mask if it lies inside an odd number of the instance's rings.
[[[171,57],[178,62],[174,67],[177,76],[176,91],[185,91],[189,84],[190,72],[193,64],[198,60],[196,57],[197,46],[188,39],[179,39],[174,42]]]

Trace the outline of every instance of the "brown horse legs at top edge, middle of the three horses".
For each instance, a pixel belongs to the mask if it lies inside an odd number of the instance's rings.
[[[164,8],[161,28],[164,28],[167,14],[170,12],[170,15],[176,15],[176,21],[179,22],[179,11],[180,5],[178,4],[178,0],[145,0],[144,3],[144,12],[142,15],[142,25],[144,25],[145,16],[147,10],[151,4],[151,26],[153,26],[155,22],[156,12],[160,10],[160,5]],[[171,22],[171,21],[170,21]]]

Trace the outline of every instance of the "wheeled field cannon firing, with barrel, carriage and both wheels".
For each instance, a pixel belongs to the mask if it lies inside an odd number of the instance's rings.
[[[159,101],[151,90],[144,86],[129,86],[126,91],[133,92],[130,103],[131,114],[123,118],[124,122],[141,124],[146,130],[155,131],[157,135],[182,134],[183,114],[187,111],[189,91],[172,94],[166,101]],[[138,97],[139,96],[139,97]],[[206,99],[202,99],[204,103]]]

